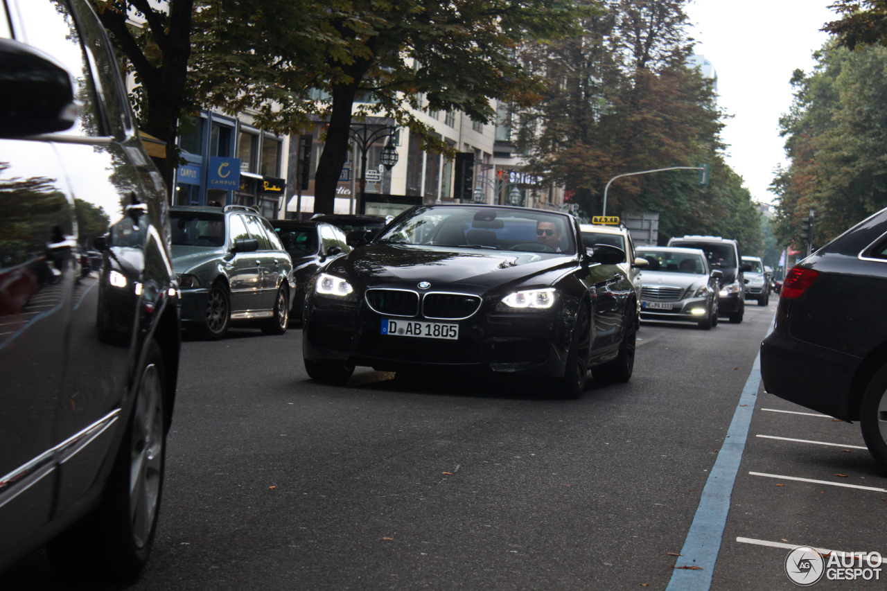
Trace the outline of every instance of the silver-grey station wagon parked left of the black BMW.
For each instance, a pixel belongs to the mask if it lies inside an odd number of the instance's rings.
[[[293,261],[253,208],[170,208],[182,324],[220,339],[232,323],[287,332]]]

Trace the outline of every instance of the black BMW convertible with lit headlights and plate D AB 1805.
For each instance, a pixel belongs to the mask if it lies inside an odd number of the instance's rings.
[[[561,396],[628,381],[636,295],[623,250],[582,246],[574,217],[539,209],[417,206],[315,275],[303,314],[308,374],[472,368],[543,376]]]

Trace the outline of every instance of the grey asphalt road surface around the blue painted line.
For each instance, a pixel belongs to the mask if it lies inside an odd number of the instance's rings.
[[[645,322],[632,382],[589,380],[581,400],[368,368],[325,386],[299,330],[184,343],[153,557],[127,588],[664,589],[774,311]],[[887,555],[887,493],[784,478],[887,488],[859,426],[756,398],[711,588],[794,588],[788,550],[758,542]],[[4,577],[98,588],[42,552]]]

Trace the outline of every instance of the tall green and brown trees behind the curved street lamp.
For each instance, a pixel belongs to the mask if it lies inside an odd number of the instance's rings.
[[[683,0],[609,0],[583,33],[522,53],[548,81],[543,98],[517,110],[518,143],[533,169],[564,185],[585,215],[600,214],[616,175],[710,164],[711,184],[695,171],[616,180],[609,212],[660,214],[660,236],[706,233],[760,248],[757,211],[742,178],[724,162],[722,114],[710,81],[687,66]]]

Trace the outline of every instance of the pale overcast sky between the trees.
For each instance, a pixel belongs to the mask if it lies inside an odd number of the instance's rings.
[[[718,72],[718,105],[727,114],[723,131],[727,162],[745,179],[755,201],[773,201],[767,186],[785,162],[779,117],[791,105],[789,79],[810,72],[812,51],[836,20],[830,0],[691,0],[687,14],[696,53]],[[712,179],[716,182],[716,179]]]

